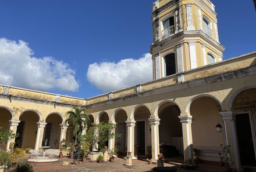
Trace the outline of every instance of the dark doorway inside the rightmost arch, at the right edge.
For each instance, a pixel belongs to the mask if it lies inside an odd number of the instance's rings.
[[[237,140],[242,166],[256,166],[253,137],[248,114],[236,115]]]

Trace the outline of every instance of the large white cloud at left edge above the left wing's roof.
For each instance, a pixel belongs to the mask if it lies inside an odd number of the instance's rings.
[[[24,41],[0,39],[0,84],[47,91],[79,89],[76,72],[67,63],[53,57],[33,57]]]

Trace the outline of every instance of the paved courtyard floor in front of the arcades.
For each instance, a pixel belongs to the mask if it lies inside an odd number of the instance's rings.
[[[68,161],[68,166],[63,166],[63,161]],[[102,162],[102,163],[90,163],[90,162],[81,162],[81,164],[72,165],[72,159],[70,158],[61,158],[58,162],[51,163],[31,163],[35,172],[37,171],[104,171],[104,172],[115,172],[115,171],[144,171],[149,172],[153,171],[152,168],[156,167],[156,164],[148,164],[143,160],[133,161],[132,167],[126,167],[126,161],[121,158],[115,158],[115,162]],[[200,164],[196,170],[182,169],[179,163],[165,163],[165,166],[176,166],[177,171],[190,171],[190,172],[199,172],[199,171],[209,171],[209,172],[219,172],[224,171],[225,168],[221,166],[213,166],[208,164]]]

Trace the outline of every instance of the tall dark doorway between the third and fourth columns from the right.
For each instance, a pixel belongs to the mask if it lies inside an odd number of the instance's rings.
[[[136,153],[145,155],[145,121],[136,121]]]

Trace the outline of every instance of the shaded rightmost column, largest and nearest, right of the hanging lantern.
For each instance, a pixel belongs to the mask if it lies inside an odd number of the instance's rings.
[[[236,134],[236,112],[233,111],[223,111],[219,112],[223,120],[224,134],[226,145],[230,145],[230,160],[234,162],[232,164],[232,169],[240,169],[240,159],[239,159],[239,149]]]

